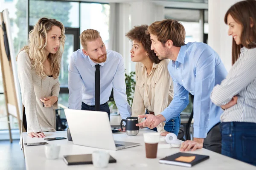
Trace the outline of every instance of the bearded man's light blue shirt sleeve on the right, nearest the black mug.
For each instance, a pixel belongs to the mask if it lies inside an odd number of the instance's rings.
[[[113,78],[113,95],[116,102],[116,107],[119,110],[122,119],[131,117],[131,108],[127,102],[127,95],[125,92],[125,64],[121,56],[116,70],[116,74]]]

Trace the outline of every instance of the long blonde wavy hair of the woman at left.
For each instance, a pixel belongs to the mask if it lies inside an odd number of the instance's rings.
[[[48,56],[46,56],[45,48],[47,46],[47,33],[52,30],[52,26],[58,26],[61,28],[60,46],[59,50],[55,54],[50,53]],[[34,28],[29,32],[28,45],[24,46],[20,51],[26,51],[31,60],[32,68],[35,69],[36,74],[42,78],[46,77],[44,72],[44,62],[48,57],[51,64],[50,68],[52,71],[52,76],[53,78],[57,79],[60,74],[60,62],[64,51],[64,43],[64,25],[55,19],[41,18],[35,24]]]

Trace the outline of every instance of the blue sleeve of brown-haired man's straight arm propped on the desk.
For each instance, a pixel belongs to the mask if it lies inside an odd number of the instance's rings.
[[[199,57],[195,68],[194,137],[206,138],[212,106],[210,94],[215,84],[215,56],[209,48],[198,50],[195,56]]]

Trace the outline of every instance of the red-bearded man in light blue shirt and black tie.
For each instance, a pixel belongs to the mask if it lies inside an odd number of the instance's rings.
[[[69,108],[95,111],[99,105],[99,111],[105,111],[109,116],[108,99],[113,88],[114,100],[122,119],[130,117],[122,55],[106,50],[97,30],[83,31],[80,42],[83,49],[73,52],[68,66]]]

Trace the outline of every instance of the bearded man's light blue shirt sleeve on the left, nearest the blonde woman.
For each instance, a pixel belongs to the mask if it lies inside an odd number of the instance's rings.
[[[71,56],[68,65],[68,108],[81,110],[82,107],[82,78],[73,62],[73,55]]]

